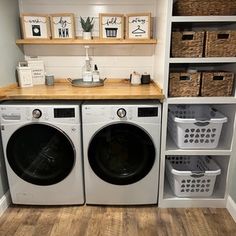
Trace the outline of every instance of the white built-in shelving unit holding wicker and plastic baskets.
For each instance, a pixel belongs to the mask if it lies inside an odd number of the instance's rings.
[[[173,29],[236,29],[236,16],[173,16],[173,2],[168,0],[168,15],[166,20],[166,57],[164,60],[163,91],[166,99],[163,102],[161,163],[159,183],[159,207],[225,207],[228,196],[231,168],[230,164],[235,157],[235,88],[232,97],[168,97],[168,83],[170,69],[184,67],[207,68],[209,70],[231,70],[236,73],[235,57],[209,58],[173,58],[171,51],[171,32]],[[219,145],[216,149],[179,149],[167,131],[168,108],[173,104],[208,104],[216,107],[225,116],[228,122],[223,125]],[[168,155],[210,155],[221,167],[221,175],[216,179],[213,195],[207,198],[179,198],[170,189],[165,176],[165,159]]]

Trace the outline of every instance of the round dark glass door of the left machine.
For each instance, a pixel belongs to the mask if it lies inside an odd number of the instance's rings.
[[[23,180],[52,185],[71,172],[75,153],[69,138],[59,129],[30,124],[16,130],[7,144],[7,160]]]

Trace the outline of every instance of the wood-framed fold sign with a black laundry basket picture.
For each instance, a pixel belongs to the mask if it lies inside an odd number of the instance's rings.
[[[99,14],[99,35],[102,39],[124,38],[124,15],[123,14]]]

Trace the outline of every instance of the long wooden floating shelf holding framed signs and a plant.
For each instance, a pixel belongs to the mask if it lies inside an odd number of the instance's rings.
[[[156,44],[156,39],[18,39],[17,45],[129,45],[129,44]]]

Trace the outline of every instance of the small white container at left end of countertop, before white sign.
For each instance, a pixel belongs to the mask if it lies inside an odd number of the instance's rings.
[[[18,74],[18,84],[20,87],[32,87],[32,73],[31,68],[28,67],[25,63],[19,63],[16,67]]]

